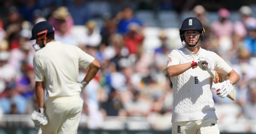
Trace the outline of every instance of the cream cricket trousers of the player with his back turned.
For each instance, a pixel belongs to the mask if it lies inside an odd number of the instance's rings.
[[[44,103],[48,123],[42,133],[77,134],[83,102],[79,95],[48,98]]]

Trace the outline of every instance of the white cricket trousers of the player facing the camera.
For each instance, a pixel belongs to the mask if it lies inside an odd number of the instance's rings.
[[[220,134],[217,118],[172,123],[172,134]]]

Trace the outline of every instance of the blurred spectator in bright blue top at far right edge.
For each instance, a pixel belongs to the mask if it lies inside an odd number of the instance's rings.
[[[245,25],[248,34],[244,38],[244,47],[252,54],[252,56],[256,56],[256,19],[247,19]]]

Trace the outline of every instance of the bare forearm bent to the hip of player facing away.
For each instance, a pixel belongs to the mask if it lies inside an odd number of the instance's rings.
[[[89,70],[84,77],[84,81],[89,83],[93,77],[97,74],[98,70],[100,69],[100,63],[97,60],[93,60],[89,66]]]

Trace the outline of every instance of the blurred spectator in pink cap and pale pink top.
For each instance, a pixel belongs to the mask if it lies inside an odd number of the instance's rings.
[[[228,20],[230,13],[221,8],[218,11],[219,20],[212,23],[212,32],[218,41],[219,52],[227,52],[232,48],[233,23]]]

